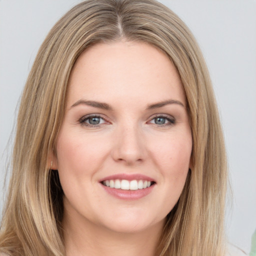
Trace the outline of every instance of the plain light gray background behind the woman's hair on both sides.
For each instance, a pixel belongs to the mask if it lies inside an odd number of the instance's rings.
[[[0,0],[0,191],[4,149],[35,54],[51,26],[78,2]],[[208,64],[233,187],[233,209],[226,214],[227,234],[233,244],[249,252],[256,228],[256,0],[161,2],[190,27]]]

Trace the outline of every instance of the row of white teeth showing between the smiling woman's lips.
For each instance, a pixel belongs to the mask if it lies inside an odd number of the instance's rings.
[[[153,185],[155,182],[149,181],[149,180],[142,180],[142,179],[139,179],[139,180],[109,179],[109,180],[103,180],[100,183],[110,188],[117,188],[122,190],[137,190],[137,189],[145,189]]]

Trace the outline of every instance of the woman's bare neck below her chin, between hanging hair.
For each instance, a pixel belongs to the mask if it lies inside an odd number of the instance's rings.
[[[66,256],[153,256],[163,222],[135,232],[116,232],[87,219],[64,214],[63,238]]]

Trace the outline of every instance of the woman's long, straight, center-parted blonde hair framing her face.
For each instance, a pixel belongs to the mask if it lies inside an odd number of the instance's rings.
[[[222,256],[226,158],[209,74],[186,25],[155,0],[87,0],[69,10],[42,43],[24,87],[3,212],[0,250],[65,254],[63,191],[47,164],[62,122],[75,60],[97,42],[143,41],[162,50],[182,80],[193,138],[192,168],[166,217],[155,254]]]

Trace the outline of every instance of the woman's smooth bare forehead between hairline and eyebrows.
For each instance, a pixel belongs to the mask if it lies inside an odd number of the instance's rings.
[[[146,103],[173,97],[185,105],[179,74],[169,58],[150,44],[118,41],[95,44],[77,58],[67,105],[79,98]]]

